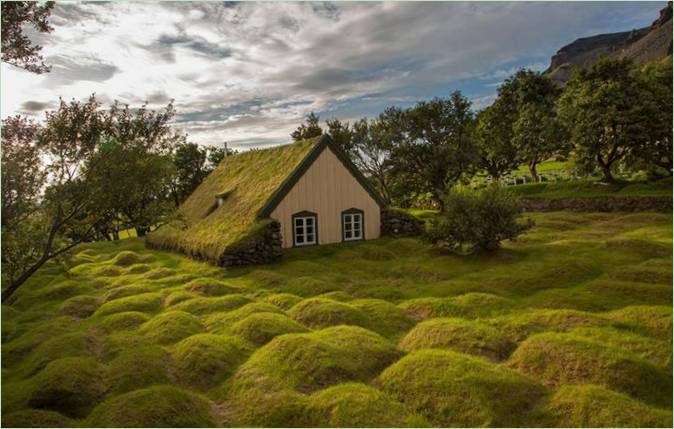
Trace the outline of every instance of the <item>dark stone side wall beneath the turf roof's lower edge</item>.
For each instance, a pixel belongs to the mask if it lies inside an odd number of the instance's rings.
[[[219,265],[260,265],[277,262],[282,256],[281,224],[274,221],[251,238],[250,242],[227,250],[220,257]]]

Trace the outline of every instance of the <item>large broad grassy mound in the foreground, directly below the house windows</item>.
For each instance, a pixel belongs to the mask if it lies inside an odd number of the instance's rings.
[[[356,326],[281,335],[239,368],[234,384],[254,386],[260,380],[277,380],[299,391],[315,391],[344,381],[372,379],[399,356],[393,344]]]

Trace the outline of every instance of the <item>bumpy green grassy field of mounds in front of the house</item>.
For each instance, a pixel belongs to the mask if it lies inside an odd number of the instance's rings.
[[[672,216],[535,213],[224,271],[78,249],[2,307],[3,426],[672,425]]]

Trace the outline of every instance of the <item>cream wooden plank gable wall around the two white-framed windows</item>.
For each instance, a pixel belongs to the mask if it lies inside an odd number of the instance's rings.
[[[326,147],[271,213],[281,223],[283,247],[293,246],[292,216],[316,213],[318,244],[342,241],[342,212],[363,210],[365,239],[379,237],[379,205]]]

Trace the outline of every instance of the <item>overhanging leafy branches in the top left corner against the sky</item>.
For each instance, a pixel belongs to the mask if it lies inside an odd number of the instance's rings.
[[[23,29],[31,25],[40,33],[50,33],[53,28],[48,18],[53,8],[53,1],[2,2],[2,61],[38,74],[50,70],[40,53],[42,47],[33,45]]]

